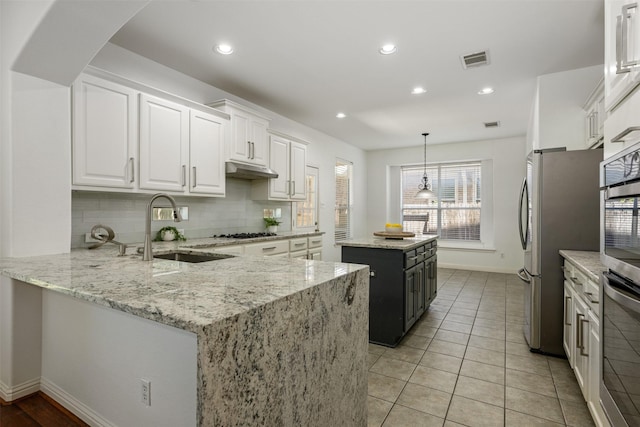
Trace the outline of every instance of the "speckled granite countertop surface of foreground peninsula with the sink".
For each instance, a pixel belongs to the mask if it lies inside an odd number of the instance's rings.
[[[216,242],[154,242],[154,252]],[[232,239],[224,239],[232,240]],[[245,239],[246,240],[251,239]],[[223,242],[223,245],[226,242]],[[235,244],[238,244],[236,242]],[[196,247],[194,247],[195,245]],[[363,266],[234,256],[204,263],[117,256],[115,245],[67,254],[0,259],[0,274],[191,332],[334,280]]]

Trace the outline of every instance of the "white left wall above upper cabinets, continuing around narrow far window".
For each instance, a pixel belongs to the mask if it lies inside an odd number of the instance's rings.
[[[336,158],[352,161],[354,164],[354,233],[362,234],[366,229],[367,206],[367,162],[364,151],[332,138],[308,126],[251,104],[237,96],[205,84],[179,73],[119,46],[107,44],[93,59],[91,65],[110,71],[130,80],[155,87],[195,102],[207,104],[218,99],[231,99],[247,105],[270,117],[270,128],[301,138],[309,142],[307,161],[320,170],[319,186],[319,226],[326,233],[323,260],[339,261],[340,248],[334,246],[335,178]]]

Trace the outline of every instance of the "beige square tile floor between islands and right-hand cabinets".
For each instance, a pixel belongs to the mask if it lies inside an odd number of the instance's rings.
[[[515,275],[438,270],[396,348],[369,344],[369,426],[592,426],[567,360],[529,352]]]

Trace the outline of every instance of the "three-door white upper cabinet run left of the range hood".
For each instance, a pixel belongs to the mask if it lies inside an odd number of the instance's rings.
[[[229,114],[93,68],[72,96],[74,189],[224,197]]]

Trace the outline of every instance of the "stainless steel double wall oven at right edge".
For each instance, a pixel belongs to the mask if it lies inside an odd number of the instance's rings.
[[[640,144],[602,162],[600,399],[613,426],[640,427]]]

